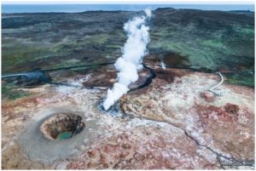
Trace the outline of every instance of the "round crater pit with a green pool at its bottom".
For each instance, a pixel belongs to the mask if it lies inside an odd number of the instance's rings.
[[[49,140],[66,140],[79,134],[85,127],[82,117],[74,114],[56,114],[42,123],[40,130]]]

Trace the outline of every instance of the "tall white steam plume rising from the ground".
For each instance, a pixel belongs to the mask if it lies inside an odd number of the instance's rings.
[[[143,68],[143,57],[148,54],[147,44],[150,41],[146,22],[151,17],[151,10],[145,9],[144,12],[146,16],[134,17],[125,23],[124,29],[128,38],[122,48],[123,55],[114,64],[118,71],[118,82],[113,84],[112,89],[108,89],[107,98],[103,102],[105,110],[129,91],[129,84],[137,81],[137,71]]]

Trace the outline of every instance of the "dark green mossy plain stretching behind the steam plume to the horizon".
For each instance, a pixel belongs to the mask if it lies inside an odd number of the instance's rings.
[[[186,57],[187,66],[197,69],[253,70],[253,13],[161,9],[153,14],[150,54],[180,54]],[[34,66],[45,69],[114,60],[121,55],[127,38],[123,26],[132,15],[137,12],[19,14],[20,18],[5,18],[3,73],[29,71]],[[182,63],[182,59],[176,61]]]

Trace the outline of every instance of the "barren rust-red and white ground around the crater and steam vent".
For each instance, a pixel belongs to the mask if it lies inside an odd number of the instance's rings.
[[[45,84],[25,88],[29,97],[3,101],[3,168],[253,168],[253,88],[224,84],[219,97],[207,91],[219,82],[217,74],[151,67],[153,82],[122,97],[119,117],[99,107],[106,90]],[[82,113],[87,128],[75,142],[61,142],[58,154],[49,155],[52,142],[39,148],[22,138],[36,141],[41,133],[27,130],[61,111]],[[24,147],[24,140],[38,149]]]

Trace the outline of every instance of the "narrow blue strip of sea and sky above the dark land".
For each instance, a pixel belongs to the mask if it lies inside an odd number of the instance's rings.
[[[253,4],[2,4],[2,13],[37,13],[37,12],[84,12],[88,10],[130,10],[137,11],[172,7],[175,9],[203,10],[250,10]]]

